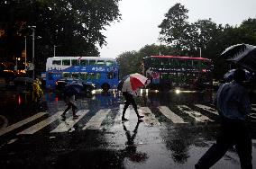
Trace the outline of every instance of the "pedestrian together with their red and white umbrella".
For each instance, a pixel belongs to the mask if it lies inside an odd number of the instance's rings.
[[[120,82],[120,84],[118,84],[118,88],[119,90],[122,91],[123,96],[125,98],[122,120],[127,120],[125,119],[124,114],[130,104],[133,105],[133,108],[137,114],[138,120],[141,120],[144,117],[139,114],[137,109],[137,104],[133,98],[133,95],[137,95],[136,90],[139,87],[144,86],[147,82],[147,79],[148,79],[147,77],[136,73],[136,74],[131,74],[129,76],[124,76],[123,80]]]

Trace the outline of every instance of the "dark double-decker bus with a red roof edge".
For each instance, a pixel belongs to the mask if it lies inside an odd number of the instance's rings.
[[[204,90],[212,88],[213,65],[208,58],[151,56],[142,60],[142,74],[151,89]]]

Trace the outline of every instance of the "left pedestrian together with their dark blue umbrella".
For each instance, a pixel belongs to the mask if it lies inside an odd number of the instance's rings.
[[[76,110],[78,109],[75,100],[76,94],[80,93],[83,88],[83,84],[78,81],[72,81],[69,84],[65,85],[64,89],[64,102],[67,104],[67,109],[61,114],[61,117],[65,120],[66,119],[66,112],[69,109],[72,110],[73,119],[78,119],[78,115],[76,114]]]

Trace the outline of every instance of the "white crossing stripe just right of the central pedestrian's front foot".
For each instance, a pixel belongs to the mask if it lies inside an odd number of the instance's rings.
[[[147,125],[160,125],[160,122],[156,119],[150,108],[141,107],[139,111],[144,116],[143,120]]]

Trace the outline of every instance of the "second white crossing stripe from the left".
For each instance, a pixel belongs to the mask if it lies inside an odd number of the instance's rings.
[[[33,125],[29,129],[24,129],[23,131],[19,132],[17,135],[21,134],[34,134],[35,132],[39,131],[40,129],[43,129],[44,127],[48,126],[51,122],[57,120],[59,116],[62,114],[63,111],[59,111],[56,114],[50,116],[46,120],[42,120],[41,122]]]

